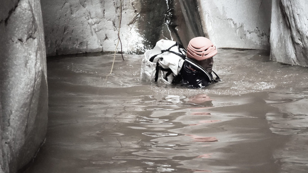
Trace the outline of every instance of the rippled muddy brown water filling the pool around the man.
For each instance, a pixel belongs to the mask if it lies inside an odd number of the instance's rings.
[[[26,173],[308,169],[308,69],[223,50],[205,89],[140,81],[142,55],[47,62],[46,143]]]

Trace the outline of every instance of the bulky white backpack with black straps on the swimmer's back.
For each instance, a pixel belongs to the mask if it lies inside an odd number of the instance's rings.
[[[179,42],[161,39],[153,49],[147,50],[141,62],[141,81],[163,82],[165,84],[183,83],[183,77],[189,76],[191,69],[202,78],[202,85],[192,84],[195,79],[189,79],[190,85],[195,88],[207,86],[217,80],[205,71],[200,65],[186,57],[186,50]],[[188,69],[189,68],[189,69]],[[196,71],[196,72],[195,72]],[[188,77],[189,78],[189,77]],[[196,79],[197,81],[200,81]],[[184,80],[187,82],[187,80]],[[185,83],[184,82],[184,83]],[[188,82],[187,82],[188,83]]]

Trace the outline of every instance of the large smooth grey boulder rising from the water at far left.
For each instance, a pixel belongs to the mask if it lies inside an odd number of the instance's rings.
[[[0,172],[33,159],[47,128],[47,72],[39,0],[0,6]]]

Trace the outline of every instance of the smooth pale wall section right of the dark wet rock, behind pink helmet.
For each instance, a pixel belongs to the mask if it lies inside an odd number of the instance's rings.
[[[199,10],[217,47],[270,49],[271,1],[199,0]]]

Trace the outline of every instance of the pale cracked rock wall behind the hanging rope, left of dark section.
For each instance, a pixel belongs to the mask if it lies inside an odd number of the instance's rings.
[[[120,18],[120,1],[41,0],[47,55],[114,51]],[[139,1],[122,4],[120,38],[123,51],[143,49],[136,18]],[[120,50],[120,46],[119,49]]]

